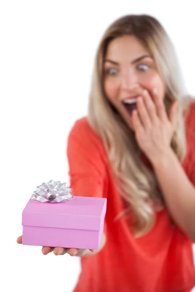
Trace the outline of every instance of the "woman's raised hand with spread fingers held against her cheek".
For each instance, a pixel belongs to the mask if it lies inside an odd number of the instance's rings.
[[[132,122],[137,144],[151,162],[170,149],[177,126],[176,108],[177,101],[174,101],[168,117],[164,101],[156,90],[153,91],[153,99],[146,90],[143,97],[137,98],[137,110],[133,111]]]

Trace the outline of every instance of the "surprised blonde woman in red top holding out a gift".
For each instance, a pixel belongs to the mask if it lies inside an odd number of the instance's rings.
[[[88,116],[72,128],[67,153],[72,194],[107,198],[100,249],[42,252],[81,256],[75,292],[189,292],[195,103],[161,24],[147,15],[117,19],[93,77]]]

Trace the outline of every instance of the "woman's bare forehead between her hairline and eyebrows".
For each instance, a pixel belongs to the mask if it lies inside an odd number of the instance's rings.
[[[135,36],[122,36],[112,40],[106,50],[105,58],[120,61],[120,59],[135,59],[148,55],[149,51]]]

